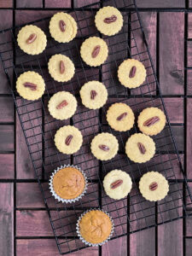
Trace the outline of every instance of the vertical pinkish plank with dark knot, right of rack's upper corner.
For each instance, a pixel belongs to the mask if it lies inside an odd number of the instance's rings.
[[[163,95],[183,95],[183,46],[183,13],[160,13],[160,89]]]

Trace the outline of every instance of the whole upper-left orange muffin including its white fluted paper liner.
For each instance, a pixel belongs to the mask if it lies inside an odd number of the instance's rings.
[[[87,189],[87,180],[78,166],[61,166],[52,173],[49,189],[58,201],[78,201]]]

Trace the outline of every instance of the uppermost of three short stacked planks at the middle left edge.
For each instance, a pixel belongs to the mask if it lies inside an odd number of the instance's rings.
[[[0,97],[0,122],[14,121],[14,101],[12,97]]]

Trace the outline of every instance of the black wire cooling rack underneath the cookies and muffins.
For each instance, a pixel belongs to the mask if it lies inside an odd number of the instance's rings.
[[[133,1],[133,2],[132,2]],[[101,35],[94,23],[96,11],[102,6],[112,5],[124,16],[124,26],[119,34],[112,37]],[[78,23],[78,35],[69,44],[58,44],[49,35],[49,18],[36,20],[35,24],[47,35],[48,44],[44,53],[36,56],[26,55],[17,44],[16,37],[21,26],[0,32],[0,56],[4,72],[15,100],[20,124],[32,157],[32,163],[44,197],[55,240],[60,253],[70,253],[86,247],[79,241],[75,225],[80,214],[87,209],[101,207],[113,218],[115,229],[112,239],[119,236],[165,224],[187,215],[186,207],[192,206],[192,196],[184,176],[181,160],[177,151],[172,128],[160,94],[153,61],[141,25],[141,19],[134,0],[101,1],[70,11]],[[26,24],[25,24],[26,25]],[[25,26],[22,25],[22,26]],[[99,36],[106,40],[108,60],[101,67],[88,67],[79,55],[79,47],[85,38]],[[56,53],[69,56],[76,67],[72,81],[57,83],[50,78],[47,63]],[[127,58],[142,61],[147,69],[145,83],[135,89],[127,90],[119,84],[117,69]],[[46,83],[44,96],[35,102],[21,98],[15,90],[15,80],[20,73],[33,70],[40,73]],[[100,110],[88,110],[79,100],[79,89],[90,80],[100,80],[108,88],[108,102]],[[72,119],[59,121],[49,116],[47,103],[50,96],[60,90],[67,90],[77,97],[79,108]],[[143,108],[150,106],[162,108],[166,113],[166,128],[154,137],[156,154],[144,164],[131,162],[125,155],[125,142],[131,134],[138,131],[137,125],[127,132],[110,129],[106,121],[106,111],[113,102],[126,102],[136,116]],[[84,143],[78,153],[71,156],[60,154],[55,148],[54,136],[62,125],[75,125],[84,136]],[[92,138],[102,131],[113,133],[119,140],[119,152],[109,161],[99,161],[90,153]],[[54,169],[61,165],[80,166],[89,179],[88,192],[73,204],[63,204],[50,195],[48,180]],[[131,175],[133,188],[130,195],[119,201],[110,199],[102,188],[102,179],[107,172],[119,168]],[[138,181],[148,171],[161,172],[169,181],[170,192],[158,203],[145,201],[139,193]]]

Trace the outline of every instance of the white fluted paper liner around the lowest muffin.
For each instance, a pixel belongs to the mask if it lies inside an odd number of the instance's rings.
[[[111,220],[111,223],[112,223],[112,230],[111,230],[111,233],[110,235],[108,236],[108,238],[105,240],[105,241],[102,241],[102,242],[99,242],[99,243],[91,243],[89,241],[86,241],[84,240],[84,237],[81,236],[80,234],[80,230],[79,230],[79,221],[81,220],[81,218],[84,217],[84,214],[86,214],[87,212],[91,212],[91,211],[100,211],[100,212],[104,212],[108,215],[108,217],[110,218]],[[90,209],[90,210],[87,210],[86,212],[82,213],[81,216],[79,217],[78,219],[78,222],[76,224],[76,232],[79,236],[79,239],[81,241],[83,241],[86,245],[89,245],[90,247],[98,247],[98,246],[102,246],[103,244],[105,244],[112,236],[113,236],[113,230],[114,230],[114,223],[113,223],[113,218],[111,218],[111,216],[108,214],[108,212],[105,212],[104,210],[102,209],[99,209],[99,208],[93,208],[93,209]]]

